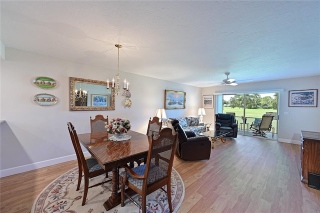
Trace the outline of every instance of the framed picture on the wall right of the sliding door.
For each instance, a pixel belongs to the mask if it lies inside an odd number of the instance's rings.
[[[289,106],[317,107],[317,89],[290,90]]]

